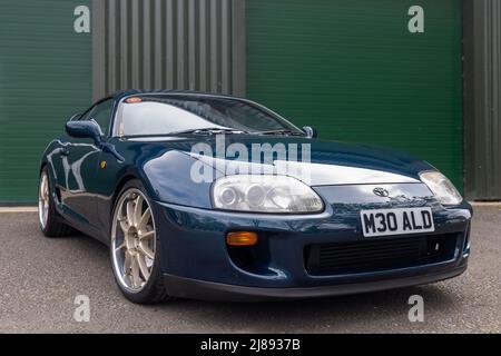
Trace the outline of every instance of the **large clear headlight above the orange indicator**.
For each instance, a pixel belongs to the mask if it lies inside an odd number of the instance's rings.
[[[214,207],[224,210],[304,214],[324,208],[312,188],[286,176],[227,176],[214,182],[212,192]]]

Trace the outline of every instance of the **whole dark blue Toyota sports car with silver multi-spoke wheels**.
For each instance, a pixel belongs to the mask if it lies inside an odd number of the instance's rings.
[[[48,237],[90,235],[135,303],[325,297],[459,276],[471,206],[428,162],[325,141],[265,107],[121,91],[40,165]]]

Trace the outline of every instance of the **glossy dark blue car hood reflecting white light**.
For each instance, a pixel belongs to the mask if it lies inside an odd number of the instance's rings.
[[[434,169],[424,161],[392,149],[302,137],[226,135],[224,138],[222,136],[191,136],[189,139],[170,137],[161,141],[158,141],[158,138],[134,139],[134,141],[138,140],[156,146],[155,150],[161,146],[168,148],[168,151],[180,151],[223,175],[254,172],[256,166],[259,166],[272,168],[274,174],[286,171],[288,176],[307,180],[306,182],[311,186],[419,182],[421,171]],[[228,147],[245,148],[248,157],[238,157],[228,152],[226,150]],[[256,156],[253,155],[256,149],[281,147],[285,148],[285,159],[275,152],[272,160],[264,161],[264,156],[261,155],[259,161],[256,162]],[[295,159],[295,151],[297,151],[297,159]],[[269,170],[265,171],[269,172]]]

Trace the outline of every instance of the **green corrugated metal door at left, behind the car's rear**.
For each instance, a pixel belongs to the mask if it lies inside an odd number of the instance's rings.
[[[37,200],[46,145],[90,105],[91,34],[73,28],[89,2],[0,2],[0,204]]]

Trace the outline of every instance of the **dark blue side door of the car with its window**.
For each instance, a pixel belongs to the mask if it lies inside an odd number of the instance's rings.
[[[79,120],[94,120],[101,128],[101,139],[106,140],[112,99],[95,105]],[[78,222],[97,227],[96,175],[101,147],[90,138],[70,138],[66,151],[61,154],[66,188],[61,200],[66,210]]]

